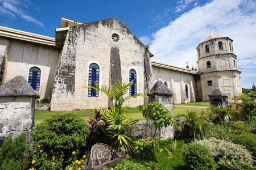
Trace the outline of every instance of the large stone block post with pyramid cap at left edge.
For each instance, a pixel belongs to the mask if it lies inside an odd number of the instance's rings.
[[[0,146],[9,134],[31,133],[36,98],[40,96],[23,76],[15,76],[0,87]]]

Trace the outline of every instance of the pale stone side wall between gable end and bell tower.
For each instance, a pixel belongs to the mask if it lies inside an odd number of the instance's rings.
[[[195,101],[195,80],[193,74],[184,73],[162,67],[152,66],[155,80],[167,82],[168,88],[174,92],[173,103],[187,103]],[[185,84],[188,86],[188,98],[185,95]]]

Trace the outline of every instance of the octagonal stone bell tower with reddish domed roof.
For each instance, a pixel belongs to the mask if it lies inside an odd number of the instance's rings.
[[[232,102],[233,96],[242,92],[241,71],[237,70],[233,40],[210,33],[196,49],[203,101],[209,101],[208,94],[213,88],[221,88]]]

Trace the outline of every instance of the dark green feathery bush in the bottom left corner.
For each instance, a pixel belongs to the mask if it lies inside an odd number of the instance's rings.
[[[0,148],[0,169],[28,169],[30,160],[26,135],[23,133],[14,139],[9,135]]]

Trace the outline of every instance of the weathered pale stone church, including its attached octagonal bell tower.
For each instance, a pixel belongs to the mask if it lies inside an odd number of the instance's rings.
[[[233,40],[211,33],[197,46],[198,70],[156,62],[117,18],[79,23],[61,18],[55,38],[0,27],[0,82],[24,76],[52,111],[109,107],[101,92],[86,86],[134,81],[130,95],[146,95],[156,80],[174,92],[173,103],[209,101],[219,87],[229,100],[242,92]],[[136,97],[130,107],[145,104]]]

